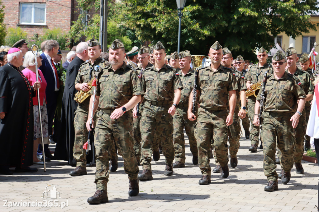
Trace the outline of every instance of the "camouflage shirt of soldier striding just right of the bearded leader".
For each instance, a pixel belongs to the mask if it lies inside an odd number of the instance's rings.
[[[158,71],[153,65],[144,70],[142,86],[145,92],[145,100],[148,101],[173,101],[174,90],[181,88],[183,84],[176,69],[166,64]]]

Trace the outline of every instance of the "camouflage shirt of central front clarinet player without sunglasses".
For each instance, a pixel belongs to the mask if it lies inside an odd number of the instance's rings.
[[[192,86],[193,87],[193,86]],[[198,70],[197,90],[200,90],[199,104],[204,110],[219,110],[228,107],[228,92],[237,90],[233,71],[222,65],[216,71],[207,66]]]

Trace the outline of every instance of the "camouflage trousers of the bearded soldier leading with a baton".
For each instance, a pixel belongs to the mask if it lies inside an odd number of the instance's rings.
[[[130,180],[136,180],[139,172],[134,156],[133,115],[127,111],[118,119],[111,119],[113,110],[100,110],[97,113],[94,145],[96,156],[95,180],[96,190],[107,190],[109,177],[110,152],[116,144],[121,150],[124,161],[124,171]]]

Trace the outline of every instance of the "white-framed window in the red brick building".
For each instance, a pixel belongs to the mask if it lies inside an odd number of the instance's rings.
[[[45,25],[46,5],[39,3],[20,4],[20,24]]]

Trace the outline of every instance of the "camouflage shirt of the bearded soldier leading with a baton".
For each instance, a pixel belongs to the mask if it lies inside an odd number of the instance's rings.
[[[96,95],[100,96],[101,109],[114,110],[129,102],[134,95],[143,96],[144,92],[135,70],[123,63],[115,71],[108,66],[100,72]]]

